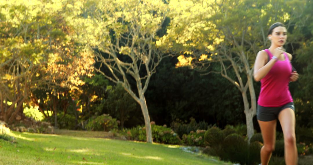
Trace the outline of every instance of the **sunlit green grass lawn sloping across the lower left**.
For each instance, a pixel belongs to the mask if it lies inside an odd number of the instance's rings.
[[[67,135],[13,134],[17,143],[0,139],[0,164],[228,164],[186,153],[180,146]]]

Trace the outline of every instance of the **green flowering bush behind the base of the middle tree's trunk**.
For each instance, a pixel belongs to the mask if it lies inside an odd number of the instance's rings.
[[[152,124],[152,139],[156,143],[180,144],[181,141],[171,128]],[[146,141],[146,128],[137,126],[131,129],[125,129],[127,138],[130,140]]]

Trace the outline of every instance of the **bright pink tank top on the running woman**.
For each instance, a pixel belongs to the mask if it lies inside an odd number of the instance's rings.
[[[273,55],[268,49],[264,50],[269,55],[269,60]],[[261,91],[258,104],[263,107],[280,107],[293,102],[289,91],[289,81],[292,66],[288,55],[284,53],[285,61],[277,60],[269,73],[261,79]]]

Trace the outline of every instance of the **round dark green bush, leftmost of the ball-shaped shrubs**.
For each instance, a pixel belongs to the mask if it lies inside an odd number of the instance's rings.
[[[210,146],[217,146],[223,142],[224,133],[218,127],[212,127],[208,129],[204,134],[204,142]]]

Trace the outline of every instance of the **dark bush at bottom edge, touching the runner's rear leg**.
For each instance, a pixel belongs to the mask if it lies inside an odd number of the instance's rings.
[[[247,164],[259,164],[261,162],[260,159],[260,151],[262,144],[260,142],[251,142],[249,145],[249,162]]]

